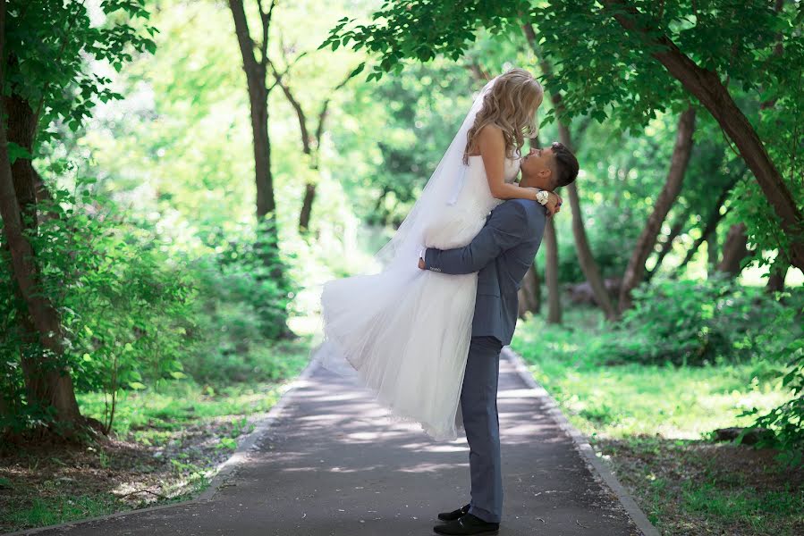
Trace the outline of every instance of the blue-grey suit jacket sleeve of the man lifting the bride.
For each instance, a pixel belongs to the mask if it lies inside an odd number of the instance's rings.
[[[525,207],[506,203],[492,212],[486,226],[468,246],[446,250],[428,247],[425,268],[453,275],[479,272],[506,249],[519,244],[529,232]]]

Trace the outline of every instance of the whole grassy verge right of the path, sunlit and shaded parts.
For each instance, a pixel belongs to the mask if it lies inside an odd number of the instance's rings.
[[[804,471],[774,450],[711,440],[747,426],[745,408],[790,398],[761,357],[701,367],[622,363],[606,356],[597,311],[572,309],[564,325],[521,322],[512,348],[589,438],[663,534],[804,533]],[[619,363],[619,364],[612,364]]]

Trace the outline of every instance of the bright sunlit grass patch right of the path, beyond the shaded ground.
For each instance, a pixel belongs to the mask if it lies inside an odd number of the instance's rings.
[[[769,410],[790,398],[781,389],[778,365],[759,357],[702,367],[612,366],[597,349],[596,337],[605,328],[597,327],[596,311],[567,314],[565,325],[580,326],[575,329],[542,322],[523,322],[512,348],[588,436],[699,439],[715,428],[752,423],[751,417],[736,416],[742,409]]]

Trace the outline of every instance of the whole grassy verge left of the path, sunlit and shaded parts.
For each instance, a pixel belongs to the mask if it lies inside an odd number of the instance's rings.
[[[114,434],[97,445],[26,448],[0,456],[0,532],[67,523],[178,502],[207,489],[254,420],[275,405],[308,364],[309,339],[260,353],[281,378],[200,384],[166,381],[121,393]],[[253,358],[253,356],[252,356]],[[101,393],[82,393],[83,415],[102,420]]]

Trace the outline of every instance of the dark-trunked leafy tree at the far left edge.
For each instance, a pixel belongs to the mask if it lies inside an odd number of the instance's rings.
[[[72,387],[58,304],[43,290],[47,276],[31,243],[38,234],[38,200],[50,197],[33,160],[43,143],[58,137],[48,126],[59,123],[78,130],[97,100],[119,97],[107,87],[110,80],[89,69],[86,58],[105,60],[119,71],[132,52],[153,51],[154,42],[145,33],[153,35],[156,29],[146,25],[143,31],[132,24],[148,18],[141,0],[101,4],[102,13],[115,13],[113,22],[102,25],[90,22],[83,2],[26,0],[2,6],[0,215],[16,283],[19,306],[14,313],[21,339],[38,341],[21,348],[26,398],[14,406],[15,411],[25,406],[38,422],[55,423],[55,431],[72,435],[87,422]]]

